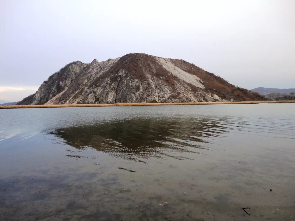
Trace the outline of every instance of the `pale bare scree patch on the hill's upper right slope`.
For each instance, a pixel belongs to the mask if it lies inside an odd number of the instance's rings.
[[[202,80],[197,77],[196,75],[192,75],[184,70],[180,69],[173,65],[168,59],[157,57],[156,58],[160,65],[162,65],[167,71],[171,72],[174,76],[178,77],[179,79],[185,81],[186,83],[195,85],[198,88],[204,89],[204,85],[202,85]]]

